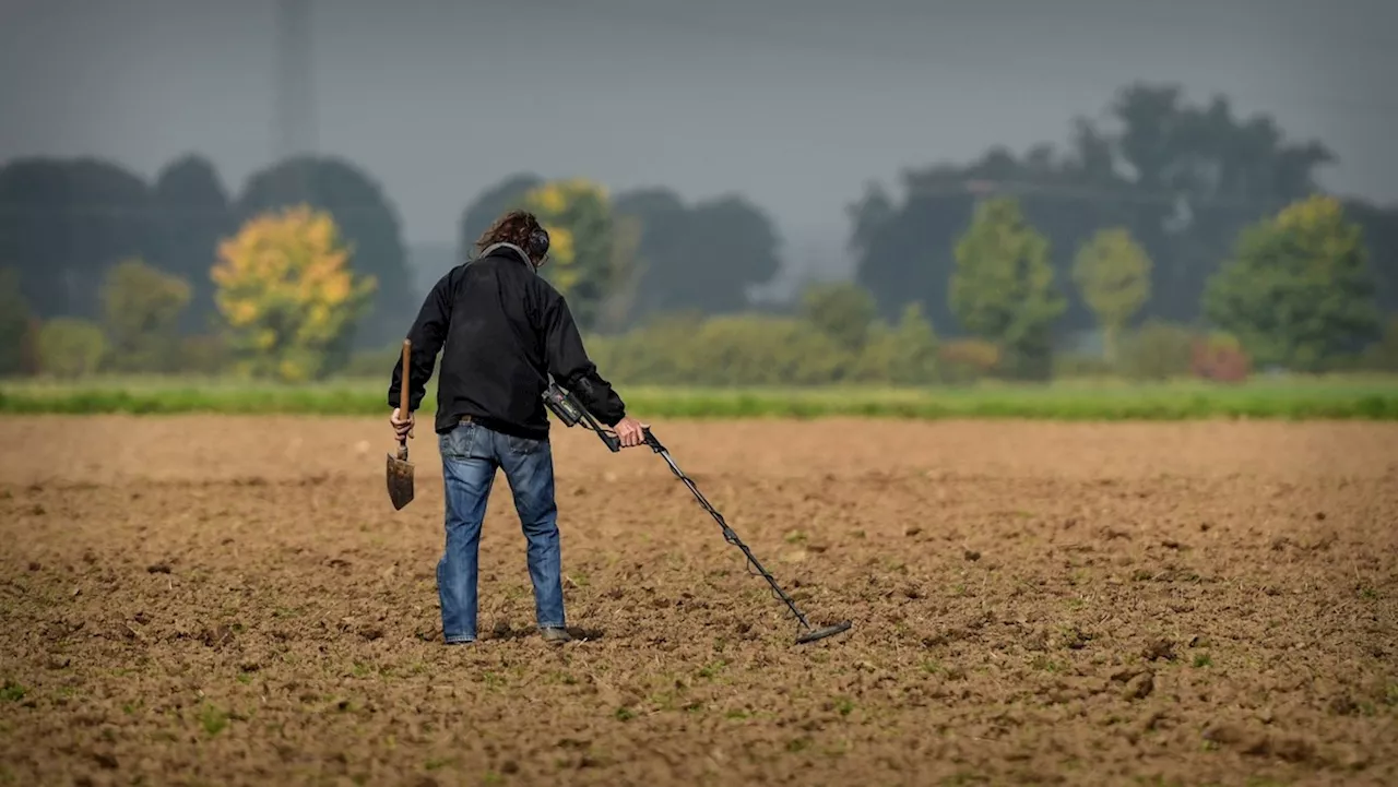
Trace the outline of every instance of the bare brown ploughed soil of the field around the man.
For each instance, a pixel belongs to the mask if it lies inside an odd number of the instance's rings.
[[[570,622],[496,485],[439,644],[440,477],[383,421],[6,418],[0,783],[1394,784],[1398,428],[559,432]],[[499,493],[506,492],[506,493]]]

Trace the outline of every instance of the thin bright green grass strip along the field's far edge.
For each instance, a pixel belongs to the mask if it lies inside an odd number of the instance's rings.
[[[386,386],[345,380],[313,386],[226,380],[13,382],[0,384],[6,414],[289,414],[384,415]],[[1055,421],[1398,419],[1398,379],[1257,380],[942,389],[684,389],[619,386],[640,418],[1023,418]],[[424,403],[432,411],[432,396]]]

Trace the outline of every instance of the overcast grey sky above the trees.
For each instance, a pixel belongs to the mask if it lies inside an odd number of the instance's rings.
[[[0,159],[189,151],[236,190],[274,154],[274,0],[0,0]],[[742,192],[787,256],[837,266],[871,179],[1064,140],[1137,78],[1226,92],[1398,201],[1384,0],[313,0],[316,145],[410,242],[521,169]],[[833,246],[833,247],[832,247]]]

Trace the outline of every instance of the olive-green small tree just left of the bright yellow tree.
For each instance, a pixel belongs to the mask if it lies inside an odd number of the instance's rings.
[[[102,282],[102,324],[112,368],[172,372],[179,358],[179,319],[192,288],[138,259],[117,263]]]

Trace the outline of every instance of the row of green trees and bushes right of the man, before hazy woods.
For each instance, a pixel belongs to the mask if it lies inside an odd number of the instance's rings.
[[[787,316],[691,315],[594,341],[600,363],[628,382],[703,384],[932,384],[997,376],[1246,379],[1255,365],[1297,372],[1398,370],[1398,320],[1381,315],[1359,226],[1339,200],[1314,194],[1246,226],[1204,284],[1205,324],[1158,317],[1155,264],[1125,226],[1106,226],[1055,281],[1050,243],[1015,197],[979,204],[952,245],[948,308],[962,337],[944,338],[918,301],[896,320],[856,282],[809,287]],[[1062,352],[1054,328],[1072,294],[1103,345]]]

